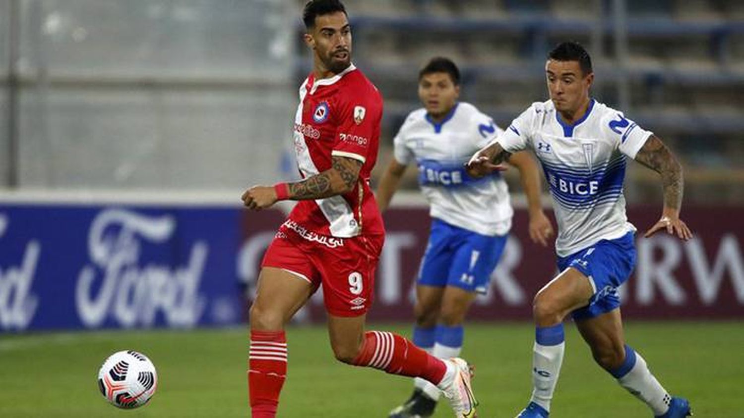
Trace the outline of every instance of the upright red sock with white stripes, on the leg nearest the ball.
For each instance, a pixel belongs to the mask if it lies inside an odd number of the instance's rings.
[[[274,418],[286,376],[284,331],[251,330],[248,356],[248,392],[253,418]]]

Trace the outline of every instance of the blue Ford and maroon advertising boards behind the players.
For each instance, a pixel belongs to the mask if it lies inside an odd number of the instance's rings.
[[[696,238],[637,238],[638,264],[621,288],[637,319],[744,318],[740,207],[688,206]],[[647,228],[658,207],[633,207]],[[240,324],[266,246],[285,218],[235,205],[0,203],[0,330],[197,327]],[[426,245],[423,207],[393,207],[371,320],[410,321],[413,278]],[[517,209],[489,293],[473,319],[529,319],[556,273],[553,250],[533,244]],[[322,321],[316,293],[298,321]]]

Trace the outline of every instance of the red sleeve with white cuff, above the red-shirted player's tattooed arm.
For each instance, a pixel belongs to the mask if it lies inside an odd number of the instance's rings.
[[[339,128],[331,155],[365,163],[376,140],[374,135],[379,132],[382,99],[376,91],[350,95],[341,102],[339,110]]]

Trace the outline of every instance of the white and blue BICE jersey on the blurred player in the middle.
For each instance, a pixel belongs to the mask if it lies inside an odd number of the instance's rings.
[[[394,140],[398,163],[416,161],[429,215],[481,235],[505,235],[513,209],[501,174],[469,177],[464,164],[493,141],[501,128],[478,108],[459,102],[441,123],[420,108],[412,111]]]

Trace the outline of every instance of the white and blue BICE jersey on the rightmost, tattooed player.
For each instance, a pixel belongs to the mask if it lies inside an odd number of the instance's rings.
[[[548,100],[533,103],[496,140],[509,152],[535,152],[553,196],[556,252],[565,257],[635,231],[625,214],[626,157],[635,158],[651,134],[594,99],[566,125]]]

